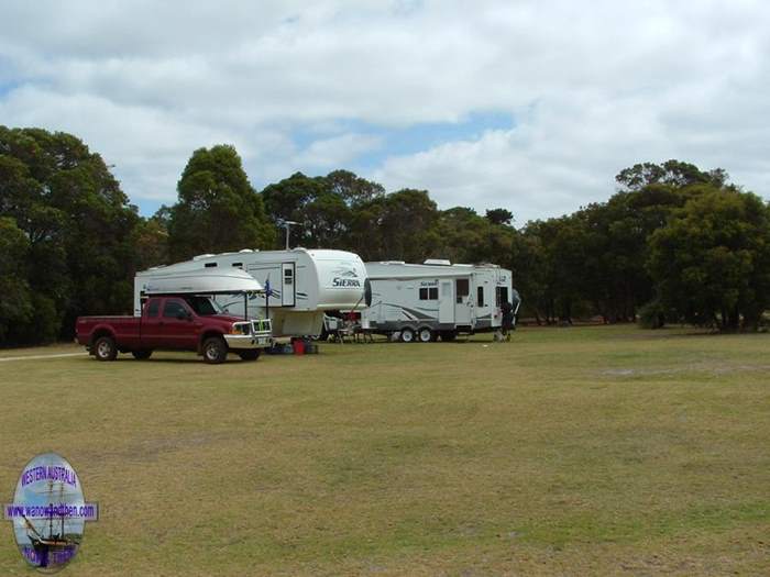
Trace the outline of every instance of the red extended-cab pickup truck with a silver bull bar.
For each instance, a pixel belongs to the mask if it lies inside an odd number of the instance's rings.
[[[268,319],[246,321],[222,313],[216,301],[201,296],[151,297],[141,317],[80,317],[77,342],[98,360],[118,353],[150,358],[153,351],[195,351],[211,364],[224,363],[228,352],[256,360],[271,345]]]

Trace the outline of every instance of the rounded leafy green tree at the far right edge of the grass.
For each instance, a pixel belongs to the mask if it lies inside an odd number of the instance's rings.
[[[701,188],[650,240],[661,309],[723,331],[756,326],[770,306],[770,207],[752,193]]]

